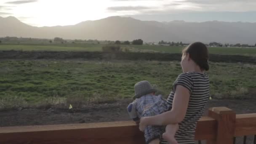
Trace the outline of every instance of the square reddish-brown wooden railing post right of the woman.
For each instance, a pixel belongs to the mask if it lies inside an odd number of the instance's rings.
[[[227,107],[213,107],[209,109],[208,116],[217,121],[217,128],[216,139],[207,141],[207,144],[233,144],[235,112]]]

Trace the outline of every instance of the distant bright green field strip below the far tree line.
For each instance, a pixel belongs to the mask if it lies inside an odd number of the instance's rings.
[[[27,43],[27,44],[0,44],[0,50],[23,50],[23,51],[101,51],[103,44],[85,43]],[[123,48],[131,48],[131,51],[157,51],[167,53],[181,53],[182,46],[160,45],[121,45]],[[150,52],[149,51],[149,52]],[[210,53],[226,55],[256,55],[256,48],[224,48],[209,47]]]

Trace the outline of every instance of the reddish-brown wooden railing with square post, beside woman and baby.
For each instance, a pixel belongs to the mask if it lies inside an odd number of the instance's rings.
[[[256,113],[236,115],[231,109],[216,107],[197,123],[195,139],[207,144],[233,144],[234,137],[246,135],[256,135]],[[143,133],[131,121],[0,128],[0,144],[143,143]]]

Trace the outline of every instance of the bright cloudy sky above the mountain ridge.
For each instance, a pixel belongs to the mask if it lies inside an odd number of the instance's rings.
[[[109,16],[161,22],[256,22],[256,0],[0,0],[0,16],[15,16],[37,27]]]

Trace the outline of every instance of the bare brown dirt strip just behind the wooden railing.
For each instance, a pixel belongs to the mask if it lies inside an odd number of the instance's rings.
[[[2,111],[0,127],[130,120],[126,112],[129,102],[125,100],[113,104],[86,105],[82,109],[72,110],[50,108]],[[237,114],[256,113],[256,100],[211,100],[207,105],[209,107],[229,107]],[[241,144],[242,141],[242,138],[237,138],[236,144]],[[247,144],[253,144],[253,136],[247,138]]]

